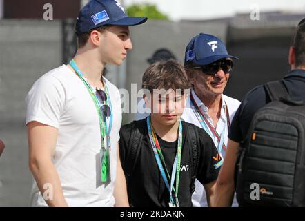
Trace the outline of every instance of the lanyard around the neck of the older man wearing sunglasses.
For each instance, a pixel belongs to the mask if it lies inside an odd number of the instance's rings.
[[[226,104],[226,102],[225,102]],[[217,133],[215,127],[210,124],[210,122],[208,121],[208,119],[206,119],[206,116],[204,115],[204,113],[202,113],[201,108],[199,108],[199,106],[197,105],[197,103],[195,102],[195,99],[193,97],[193,94],[190,93],[190,106],[193,109],[199,123],[201,124],[201,127],[208,133],[210,134],[208,131],[210,130],[213,135],[217,138],[217,141],[219,142],[220,145],[222,145],[222,148],[224,149],[224,151],[226,151],[226,145],[224,144],[224,142],[221,142],[224,140],[224,130],[222,133],[222,137]],[[225,113],[226,113],[226,124],[228,126],[228,130],[230,128],[230,115],[228,113],[228,106],[226,105],[225,108]],[[208,130],[209,129],[209,130]],[[212,136],[210,136],[212,137]],[[221,143],[220,143],[221,142]],[[219,149],[219,148],[218,148]],[[219,152],[220,153],[220,152]]]

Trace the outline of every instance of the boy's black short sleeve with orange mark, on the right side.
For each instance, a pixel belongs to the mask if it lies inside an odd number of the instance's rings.
[[[201,184],[208,184],[217,179],[222,166],[222,159],[218,154],[213,140],[203,129],[199,128],[200,159],[197,169],[197,180]]]

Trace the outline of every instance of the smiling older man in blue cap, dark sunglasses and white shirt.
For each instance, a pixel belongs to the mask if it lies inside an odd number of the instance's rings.
[[[204,128],[212,137],[219,152],[215,160],[225,157],[230,121],[240,104],[223,94],[233,68],[232,59],[237,57],[228,55],[224,43],[213,35],[200,33],[186,46],[184,66],[193,88],[181,118]],[[204,186],[198,180],[192,202],[195,207],[208,205]]]

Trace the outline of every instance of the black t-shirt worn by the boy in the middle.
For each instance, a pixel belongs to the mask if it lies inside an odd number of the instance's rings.
[[[128,142],[130,141],[132,124],[134,123],[122,126],[120,131],[119,148],[122,165],[124,165],[128,153],[127,148]],[[179,206],[182,207],[193,206],[191,202],[193,152],[191,150],[190,140],[186,135],[188,124],[182,122],[182,153],[178,191]],[[146,119],[138,121],[136,125],[144,136],[135,169],[128,183],[130,205],[137,207],[168,207],[170,195],[155,160],[153,147],[150,144],[148,136]],[[220,168],[216,169],[215,166],[219,162],[219,159],[217,159],[218,152],[210,136],[203,129],[197,126],[195,128],[199,135],[196,175],[199,182],[208,184],[216,180],[219,173]],[[177,151],[177,141],[166,142],[160,138],[158,141],[164,155],[166,168],[168,169],[168,173],[171,174]]]

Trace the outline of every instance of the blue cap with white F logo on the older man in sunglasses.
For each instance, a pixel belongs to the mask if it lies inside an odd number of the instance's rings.
[[[237,57],[228,55],[228,51],[222,40],[214,35],[200,33],[193,37],[188,43],[188,46],[186,46],[184,65],[190,62],[198,65],[206,65],[226,57],[238,59]]]

